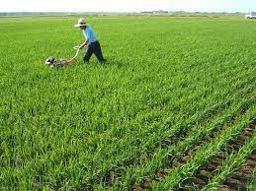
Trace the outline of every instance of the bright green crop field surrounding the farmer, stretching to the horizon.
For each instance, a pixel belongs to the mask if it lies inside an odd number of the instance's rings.
[[[255,21],[91,16],[108,63],[49,68],[84,40],[77,19],[0,18],[0,190],[252,182]]]

